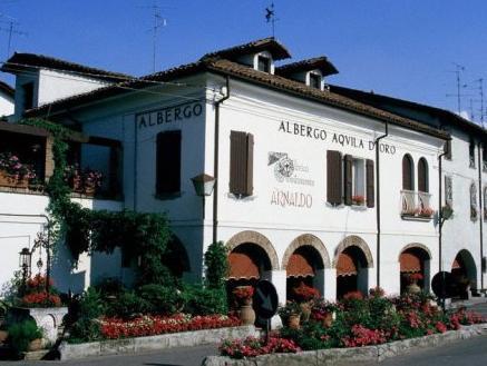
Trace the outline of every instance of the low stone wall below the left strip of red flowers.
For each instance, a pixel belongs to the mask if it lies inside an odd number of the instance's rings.
[[[222,338],[244,338],[247,336],[259,336],[259,332],[254,326],[171,333],[159,336],[101,340],[78,345],[62,342],[58,349],[61,360],[66,360],[90,356],[135,354],[174,347],[210,345],[220,343]]]

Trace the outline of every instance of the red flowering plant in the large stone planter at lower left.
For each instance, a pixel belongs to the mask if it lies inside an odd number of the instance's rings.
[[[20,306],[25,307],[59,307],[61,298],[53,287],[52,278],[49,278],[49,290],[46,289],[46,277],[37,274],[26,281],[25,294],[20,298]]]

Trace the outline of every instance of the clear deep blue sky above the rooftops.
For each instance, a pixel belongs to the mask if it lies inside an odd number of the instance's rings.
[[[154,4],[165,19],[156,41],[156,69],[164,70],[272,36],[264,17],[271,2],[0,0],[0,60],[13,51],[33,52],[143,76],[153,71]],[[487,95],[487,0],[274,0],[274,6],[275,37],[293,57],[285,62],[327,56],[340,71],[330,83],[452,111],[459,65],[460,109],[473,109],[480,121],[476,80],[486,79]],[[8,52],[11,21],[18,33]]]

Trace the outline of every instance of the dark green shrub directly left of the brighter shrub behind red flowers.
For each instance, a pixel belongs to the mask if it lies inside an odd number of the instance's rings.
[[[138,294],[150,314],[172,315],[183,306],[183,297],[176,287],[149,284],[142,286]]]

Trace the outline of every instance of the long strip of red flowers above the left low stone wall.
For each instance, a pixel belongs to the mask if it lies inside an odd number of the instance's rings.
[[[103,318],[101,336],[107,339],[127,337],[155,336],[167,333],[236,327],[240,319],[225,315],[207,315],[192,317],[187,314],[176,314],[168,317],[140,316],[133,320],[119,318]]]

